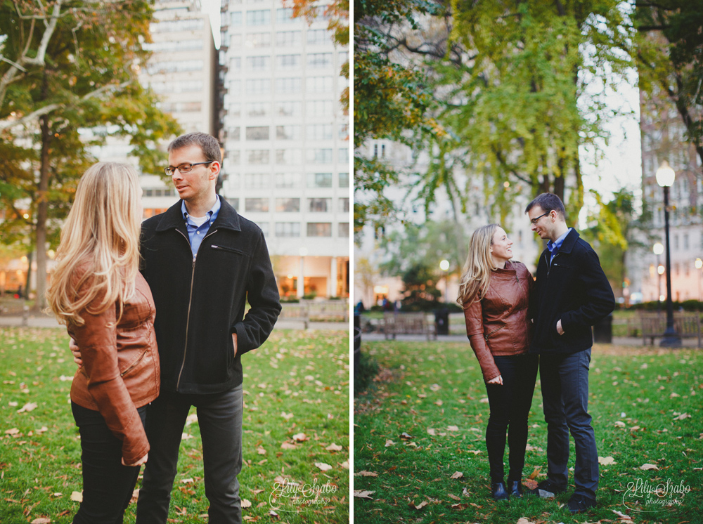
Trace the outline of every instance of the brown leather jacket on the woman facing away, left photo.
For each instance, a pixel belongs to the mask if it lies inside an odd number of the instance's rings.
[[[100,315],[83,310],[84,325],[68,325],[83,360],[73,377],[71,400],[103,415],[110,431],[122,440],[124,462],[134,464],[149,450],[136,408],[157,398],[160,386],[156,310],[141,273],[117,325],[115,309],[113,304]]]

